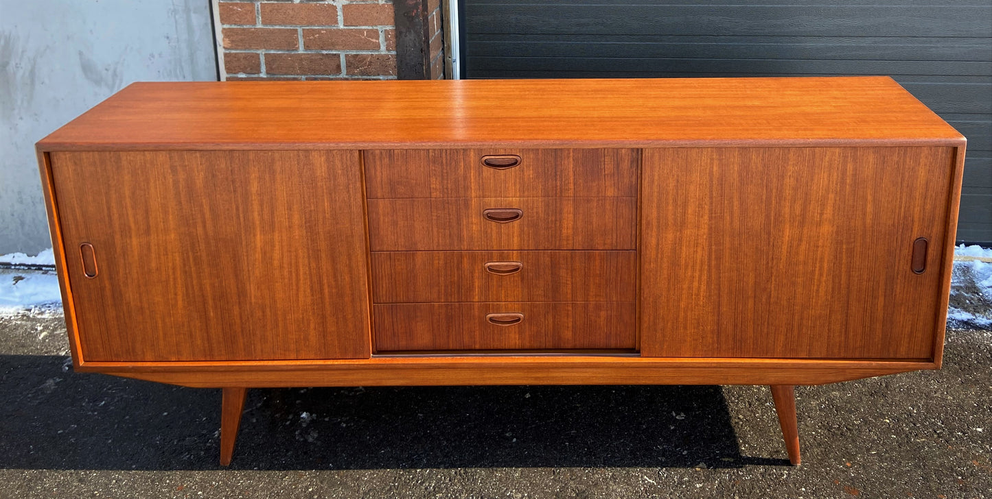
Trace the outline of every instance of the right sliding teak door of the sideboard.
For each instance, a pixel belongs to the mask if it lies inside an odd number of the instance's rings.
[[[642,353],[934,358],[954,165],[949,148],[645,150]]]

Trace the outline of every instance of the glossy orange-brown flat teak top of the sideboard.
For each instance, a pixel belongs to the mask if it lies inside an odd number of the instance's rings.
[[[134,83],[39,150],[963,146],[892,78]]]

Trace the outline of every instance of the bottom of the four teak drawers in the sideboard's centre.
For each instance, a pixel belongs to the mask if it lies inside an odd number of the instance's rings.
[[[372,306],[377,351],[634,349],[634,302]]]

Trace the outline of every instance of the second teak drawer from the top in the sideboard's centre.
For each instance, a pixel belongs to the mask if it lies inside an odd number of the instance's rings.
[[[369,199],[373,251],[635,250],[637,198]]]

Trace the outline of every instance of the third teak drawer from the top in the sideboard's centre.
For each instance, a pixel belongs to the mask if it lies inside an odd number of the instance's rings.
[[[376,303],[634,301],[635,251],[377,251]]]

